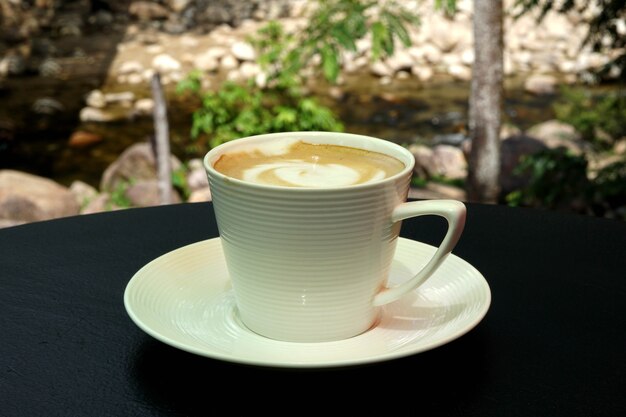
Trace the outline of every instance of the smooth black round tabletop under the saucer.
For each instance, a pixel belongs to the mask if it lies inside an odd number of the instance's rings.
[[[436,245],[444,228],[408,220],[402,236]],[[195,356],[131,322],[133,274],[216,236],[209,203],[0,230],[0,416],[301,414],[334,400],[424,416],[626,415],[625,223],[470,204],[455,254],[489,282],[484,320],[428,352],[308,371]]]

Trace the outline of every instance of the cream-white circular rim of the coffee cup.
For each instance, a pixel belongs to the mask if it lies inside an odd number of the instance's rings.
[[[385,153],[388,156],[394,157],[400,160],[400,162],[402,162],[405,166],[404,166],[404,169],[402,169],[402,171],[398,172],[397,174],[384,178],[380,181],[371,182],[371,183],[338,185],[338,186],[333,186],[333,187],[287,187],[283,185],[259,184],[259,183],[249,182],[249,181],[243,181],[238,178],[229,177],[228,175],[222,174],[221,172],[213,168],[213,165],[211,163],[212,160],[216,157],[216,155],[223,153],[224,152],[223,150],[230,146],[245,145],[246,143],[269,140],[271,138],[289,138],[289,137],[294,137],[294,136],[298,136],[298,139],[301,138],[303,140],[306,140],[307,137],[324,138],[324,137],[342,136],[352,141],[365,140],[368,142],[373,142],[375,144],[379,144],[380,146],[384,148],[393,150],[393,152],[396,152],[396,153],[391,154],[391,153],[384,152],[384,150],[381,151],[378,149],[375,150],[374,152]],[[320,143],[325,143],[325,142],[320,142]],[[351,147],[362,149],[362,147],[358,145],[354,145],[354,144],[349,144],[349,145],[337,144],[337,143],[330,143],[330,144],[338,145],[338,146],[351,146]],[[367,150],[370,150],[370,149],[367,149]],[[202,159],[202,163],[207,173],[210,173],[212,176],[215,176],[222,181],[229,181],[234,184],[244,185],[246,187],[251,187],[255,189],[282,190],[282,191],[289,190],[291,192],[315,193],[315,192],[321,192],[321,191],[328,192],[328,191],[334,191],[334,190],[341,190],[341,191],[356,190],[356,189],[361,189],[361,188],[376,187],[376,186],[385,185],[390,182],[397,181],[399,178],[402,178],[406,176],[408,173],[413,172],[413,169],[415,167],[415,157],[408,149],[398,145],[397,143],[380,139],[380,138],[375,138],[373,136],[359,135],[359,134],[354,134],[354,133],[344,133],[344,132],[301,131],[301,132],[264,133],[260,135],[246,136],[246,137],[242,137],[239,139],[233,139],[232,141],[225,142],[221,145],[216,146],[210,151],[208,151],[206,155],[204,156],[204,158]]]

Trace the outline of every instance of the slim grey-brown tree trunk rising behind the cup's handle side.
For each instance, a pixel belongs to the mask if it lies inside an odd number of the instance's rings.
[[[502,55],[502,0],[474,0],[475,58],[469,102],[472,150],[467,178],[470,201],[498,200]]]

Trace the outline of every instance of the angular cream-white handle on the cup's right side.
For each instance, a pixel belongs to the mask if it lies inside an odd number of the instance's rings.
[[[419,217],[426,215],[441,216],[448,221],[448,231],[443,238],[441,245],[431,258],[431,260],[413,278],[402,284],[384,288],[374,297],[374,305],[381,306],[397,300],[408,292],[413,291],[426,281],[441,266],[446,257],[452,252],[454,246],[459,241],[463,228],[465,227],[466,208],[463,203],[456,200],[427,200],[412,201],[400,204],[391,214],[393,223],[407,219],[409,217]]]

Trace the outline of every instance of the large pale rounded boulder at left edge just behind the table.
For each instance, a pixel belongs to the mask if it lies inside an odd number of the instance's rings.
[[[0,219],[32,222],[73,216],[78,210],[66,187],[25,172],[0,170]]]

